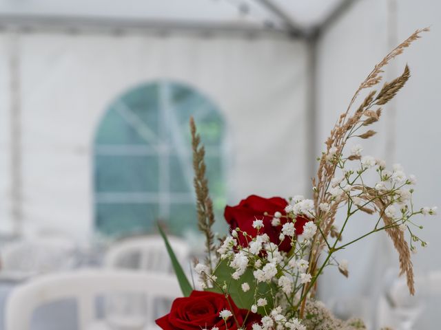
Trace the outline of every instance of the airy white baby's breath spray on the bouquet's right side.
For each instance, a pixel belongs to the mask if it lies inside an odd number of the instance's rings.
[[[347,158],[342,155],[336,158],[337,156],[333,155],[333,162],[342,175],[336,175],[330,180],[327,199],[318,206],[321,212],[329,212],[333,203],[340,205],[343,202],[351,206],[350,212],[377,210],[380,217],[385,216],[391,219],[391,226],[396,226],[402,231],[407,231],[410,225],[416,225],[413,221],[409,221],[414,215],[436,214],[435,206],[414,208],[412,202],[413,186],[416,184],[414,175],[407,175],[400,164],[394,164],[391,170],[387,170],[382,159],[362,155],[362,150],[362,146],[356,144],[351,148],[351,153]],[[347,162],[352,160],[359,162],[360,167],[357,170],[347,170]],[[367,175],[369,170],[376,170],[379,177],[372,184],[367,184],[367,180],[372,177],[372,175]],[[421,228],[419,225],[416,226]],[[422,241],[411,230],[408,231],[411,236],[411,250],[416,250],[413,242],[420,241],[422,246],[427,245],[427,242]]]

